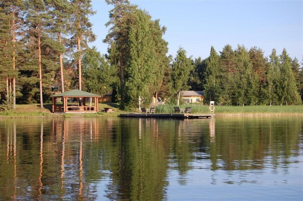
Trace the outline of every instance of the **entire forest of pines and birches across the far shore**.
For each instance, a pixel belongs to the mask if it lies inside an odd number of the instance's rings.
[[[205,103],[290,105],[303,99],[303,72],[284,49],[266,57],[262,49],[213,47],[205,59],[180,47],[173,57],[163,39],[166,27],[127,0],[106,0],[108,44],[101,54],[89,17],[90,0],[0,2],[0,92],[15,104],[49,102],[52,87],[104,95],[113,91],[121,109],[149,105],[152,96],[179,104],[180,90],[202,90]]]

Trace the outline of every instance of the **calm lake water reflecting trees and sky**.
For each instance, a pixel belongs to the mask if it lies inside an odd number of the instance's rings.
[[[0,200],[302,200],[302,121],[0,119]]]

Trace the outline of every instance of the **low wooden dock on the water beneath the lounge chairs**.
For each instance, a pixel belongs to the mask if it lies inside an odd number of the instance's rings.
[[[140,114],[140,113],[128,113],[120,114],[119,117],[126,118],[211,118],[215,117],[215,114]]]

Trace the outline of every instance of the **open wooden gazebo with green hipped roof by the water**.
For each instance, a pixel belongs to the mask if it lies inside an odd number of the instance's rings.
[[[98,112],[98,98],[102,97],[97,94],[73,89],[59,93],[52,98],[52,112]],[[58,102],[58,98],[62,101]]]

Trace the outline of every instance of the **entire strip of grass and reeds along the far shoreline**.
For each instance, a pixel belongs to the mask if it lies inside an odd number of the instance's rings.
[[[156,113],[174,113],[175,105],[158,105]],[[116,117],[125,111],[118,109],[117,103],[99,103],[99,109],[113,108],[112,113],[51,113],[51,104],[45,104],[41,109],[37,104],[17,105],[16,111],[6,110],[5,105],[0,105],[0,118],[72,118],[72,117]],[[181,108],[191,107],[193,114],[208,114],[209,109],[207,105],[180,105]],[[303,116],[302,105],[289,105],[289,106],[215,106],[216,116]]]

